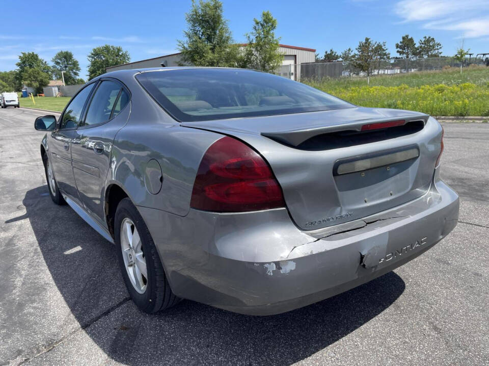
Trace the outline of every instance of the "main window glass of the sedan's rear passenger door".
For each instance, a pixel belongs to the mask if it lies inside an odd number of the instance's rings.
[[[88,108],[85,125],[93,126],[111,119],[112,109],[121,92],[121,85],[115,81],[104,80],[100,83]]]

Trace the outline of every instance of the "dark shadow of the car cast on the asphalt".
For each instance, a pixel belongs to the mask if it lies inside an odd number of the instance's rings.
[[[47,190],[42,186],[25,194],[25,216],[71,313],[97,346],[118,362],[291,364],[381,314],[405,288],[404,281],[390,272],[276,316],[239,315],[188,300],[166,312],[143,314],[128,300],[116,248],[68,206],[53,204]]]

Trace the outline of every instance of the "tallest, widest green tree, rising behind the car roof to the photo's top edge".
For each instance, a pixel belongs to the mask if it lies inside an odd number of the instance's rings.
[[[192,0],[185,14],[185,39],[178,41],[180,65],[236,66],[238,46],[233,44],[228,22],[223,16],[223,4],[218,0]]]

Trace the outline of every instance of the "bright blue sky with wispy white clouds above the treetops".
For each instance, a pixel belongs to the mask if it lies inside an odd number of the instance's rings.
[[[443,54],[464,42],[472,52],[489,52],[489,0],[224,0],[224,15],[236,42],[245,40],[253,18],[269,10],[278,20],[281,43],[339,52],[365,37],[386,41],[391,55],[408,33],[416,41],[430,35]],[[131,60],[177,52],[191,1],[19,2],[2,12],[0,70],[13,70],[20,52],[34,51],[50,62],[60,50],[73,52],[86,78],[87,54],[112,44]],[[4,9],[6,10],[6,9]],[[66,19],[66,21],[64,20]]]

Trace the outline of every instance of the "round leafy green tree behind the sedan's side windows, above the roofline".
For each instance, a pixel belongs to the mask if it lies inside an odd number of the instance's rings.
[[[95,47],[88,55],[88,78],[93,79],[105,74],[105,69],[111,66],[127,64],[131,57],[129,52],[124,51],[120,46],[103,45]]]

